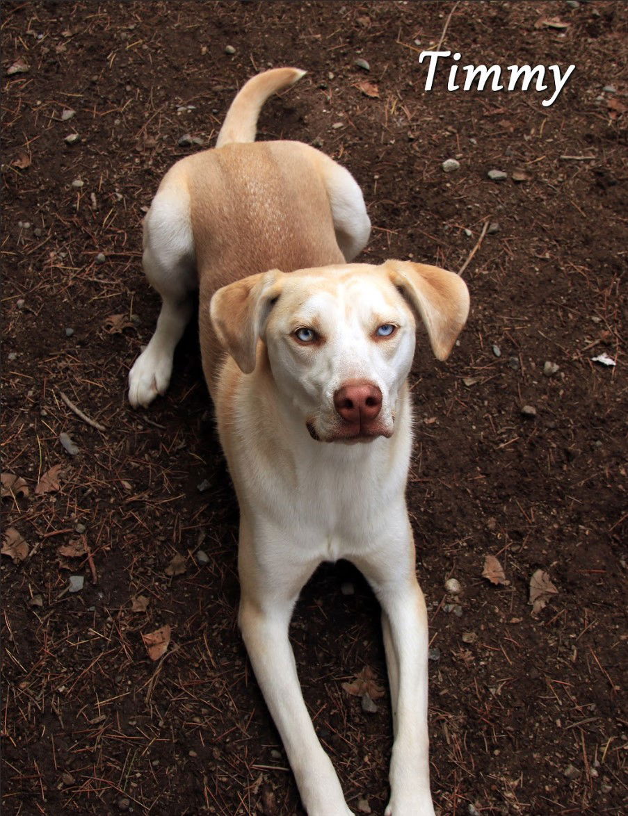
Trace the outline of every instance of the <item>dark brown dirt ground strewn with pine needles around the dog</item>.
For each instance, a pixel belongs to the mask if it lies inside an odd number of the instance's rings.
[[[269,101],[259,138],[354,173],[364,259],[459,270],[479,243],[459,345],[438,363],[421,338],[412,374],[437,812],[625,812],[626,4],[3,10],[2,471],[24,480],[2,499],[3,813],[302,813],[238,636],[238,509],[194,326],[167,397],[125,398],[158,313],[140,268],[158,181],[213,144],[246,78],[283,64],[309,73]],[[419,54],[439,42],[461,64],[576,69],[550,107],[448,92],[444,69],[426,92]],[[482,577],[487,555],[504,583]],[[557,592],[532,614],[537,570]],[[142,635],[164,627],[152,660]],[[370,713],[343,686],[365,667],[386,685],[350,565],[318,570],[292,641],[350,807],[383,813],[388,693]]]

